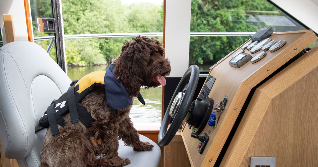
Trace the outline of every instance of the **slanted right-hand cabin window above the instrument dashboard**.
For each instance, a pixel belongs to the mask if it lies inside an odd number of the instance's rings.
[[[262,27],[272,26],[275,32],[307,29],[266,0],[192,0],[191,3],[189,66],[198,65],[200,72],[209,72],[210,66]],[[315,45],[317,41],[310,46]]]

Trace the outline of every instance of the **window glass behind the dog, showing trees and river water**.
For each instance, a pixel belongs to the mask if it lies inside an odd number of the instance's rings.
[[[162,32],[163,0],[62,0],[62,10],[67,75],[71,80],[96,70],[105,71],[108,62],[119,56],[122,45],[135,38],[125,37],[126,33]],[[72,37],[101,33],[123,33],[123,37]],[[162,37],[154,38],[162,43]],[[132,121],[161,122],[162,88],[141,88],[141,94],[146,105],[135,98],[130,110]]]

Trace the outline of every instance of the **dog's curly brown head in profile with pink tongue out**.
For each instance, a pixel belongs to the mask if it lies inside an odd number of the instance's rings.
[[[154,38],[138,35],[126,42],[121,54],[112,61],[114,74],[127,88],[131,96],[138,96],[140,87],[158,87],[165,85],[165,76],[171,67],[164,58],[162,44]]]

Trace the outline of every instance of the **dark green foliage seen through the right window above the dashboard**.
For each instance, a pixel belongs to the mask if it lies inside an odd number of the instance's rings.
[[[191,32],[255,32],[257,29],[244,21],[247,17],[245,11],[276,10],[264,0],[220,0],[218,4],[209,3],[204,8],[200,2],[192,0]],[[189,65],[212,65],[248,39],[246,36],[190,37]]]

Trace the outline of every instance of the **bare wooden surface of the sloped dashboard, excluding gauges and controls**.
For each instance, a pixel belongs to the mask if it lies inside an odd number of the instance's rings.
[[[240,68],[231,67],[228,62],[232,59],[232,54],[241,49],[240,46],[211,69],[209,74],[216,80],[209,97],[214,99],[214,105],[222,101],[225,95],[228,96],[228,100],[218,119],[217,127],[207,125],[200,134],[211,131],[203,154],[199,154],[197,150],[199,141],[190,137],[192,130],[184,126],[181,135],[192,167],[215,164],[250,90],[317,39],[312,30],[277,32],[269,38],[276,41],[284,39],[286,44],[275,52],[266,51],[266,56],[257,63],[247,62]],[[246,49],[245,53],[251,54]],[[257,53],[259,52],[251,55],[255,56]]]

